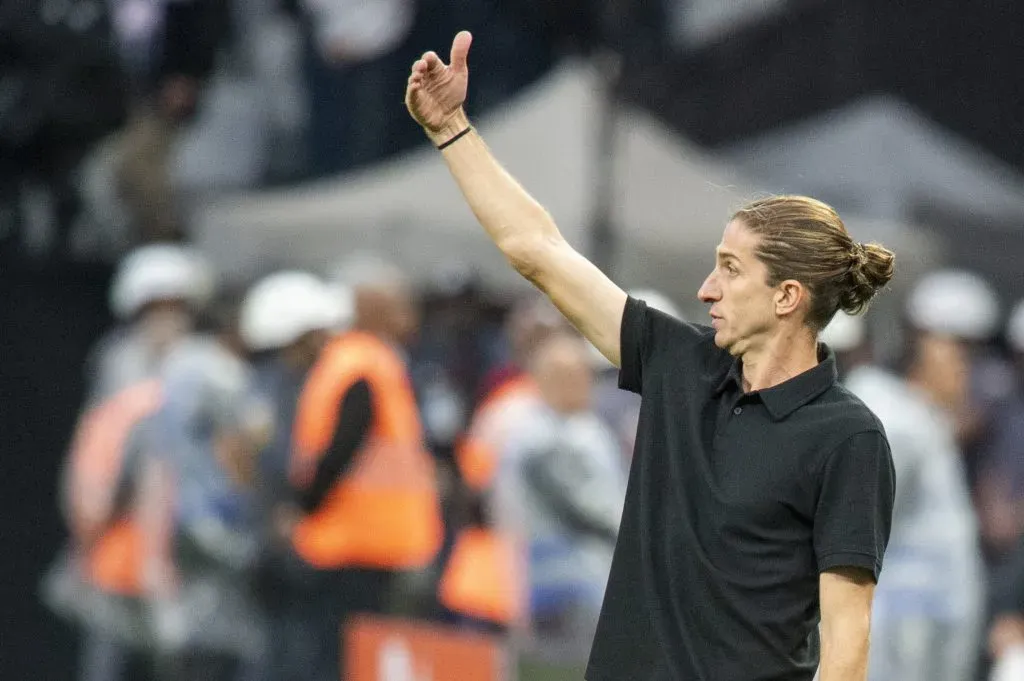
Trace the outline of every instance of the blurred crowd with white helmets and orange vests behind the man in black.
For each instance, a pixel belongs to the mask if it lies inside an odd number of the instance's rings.
[[[639,401],[545,299],[369,253],[218,285],[156,244],[111,305],[44,580],[81,629],[80,678],[337,679],[360,614],[582,675]],[[870,318],[823,340],[898,473],[871,679],[1021,678],[1024,303],[1004,325],[982,278],[929,273],[886,363]]]

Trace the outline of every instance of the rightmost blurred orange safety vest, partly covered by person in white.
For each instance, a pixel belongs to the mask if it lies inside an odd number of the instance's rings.
[[[509,434],[502,424],[495,427],[494,419],[508,416],[514,402],[537,395],[534,380],[519,376],[493,390],[477,408],[469,432],[456,449],[463,479],[477,494],[486,493],[494,483]],[[522,562],[519,545],[510,534],[467,527],[456,539],[437,597],[455,612],[512,625],[523,609]]]

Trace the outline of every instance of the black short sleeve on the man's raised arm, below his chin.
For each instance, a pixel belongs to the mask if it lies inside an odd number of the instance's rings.
[[[620,331],[618,387],[642,394],[645,374],[657,364],[678,366],[697,356],[697,346],[709,339],[707,327],[699,327],[649,307],[638,298],[629,297],[623,311]]]

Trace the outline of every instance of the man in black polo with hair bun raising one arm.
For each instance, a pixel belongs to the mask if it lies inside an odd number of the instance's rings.
[[[711,326],[629,298],[497,163],[462,110],[471,37],[413,65],[406,103],[480,223],[643,397],[590,681],[866,678],[894,473],[817,334],[863,310],[893,255],[824,204],[733,215],[698,296]],[[820,643],[818,625],[820,622]]]

